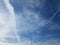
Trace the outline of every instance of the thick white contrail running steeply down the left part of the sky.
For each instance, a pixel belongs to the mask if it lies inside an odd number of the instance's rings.
[[[17,30],[16,30],[16,20],[15,20],[16,18],[15,18],[14,8],[10,4],[9,0],[4,0],[4,3],[6,4],[6,7],[10,12],[12,25],[14,26],[14,27],[13,26],[12,27],[14,28],[13,31],[16,35],[17,41],[20,42],[20,38],[19,38],[19,35],[17,34]]]

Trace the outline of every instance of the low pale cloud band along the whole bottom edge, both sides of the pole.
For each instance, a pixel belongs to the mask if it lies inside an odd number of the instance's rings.
[[[0,45],[31,45],[31,41],[24,41],[19,43],[0,42]],[[32,45],[60,45],[60,39],[48,39],[45,41],[39,41],[37,43],[32,42]]]

